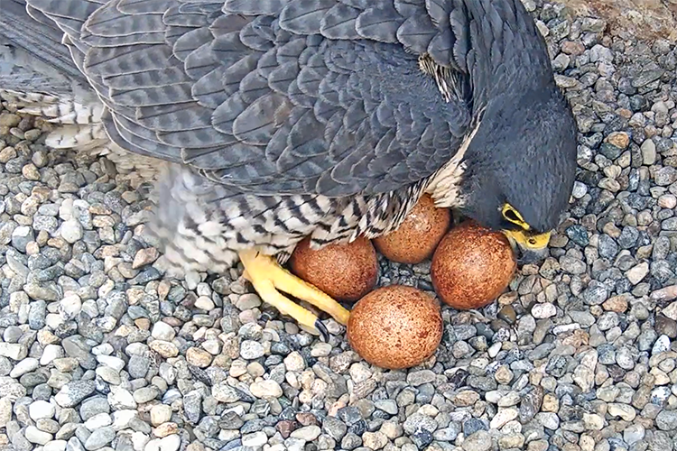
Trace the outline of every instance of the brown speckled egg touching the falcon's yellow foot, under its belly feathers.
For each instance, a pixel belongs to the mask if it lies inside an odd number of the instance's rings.
[[[374,245],[365,237],[318,250],[312,250],[310,244],[310,238],[301,241],[289,262],[292,272],[302,280],[342,301],[356,301],[374,290],[378,261]]]

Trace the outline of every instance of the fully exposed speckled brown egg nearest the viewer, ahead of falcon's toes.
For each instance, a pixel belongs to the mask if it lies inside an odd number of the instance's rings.
[[[348,344],[369,364],[389,370],[422,364],[440,345],[439,303],[404,285],[379,288],[350,311]]]

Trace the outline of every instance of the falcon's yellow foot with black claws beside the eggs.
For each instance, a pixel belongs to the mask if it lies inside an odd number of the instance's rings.
[[[348,324],[350,312],[346,308],[343,308],[336,300],[331,299],[326,293],[318,290],[310,283],[302,281],[291,272],[283,269],[274,258],[258,253],[254,249],[241,251],[239,257],[245,266],[245,273],[243,274],[245,279],[254,285],[254,289],[261,299],[277,308],[283,315],[294,318],[309,332],[319,334],[324,341],[329,341],[327,327],[322,324],[320,319],[311,311],[292,302],[280,291],[303,299],[322,311],[326,311],[344,326]]]

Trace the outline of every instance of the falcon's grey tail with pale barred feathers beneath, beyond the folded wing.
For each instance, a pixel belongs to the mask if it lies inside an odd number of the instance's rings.
[[[63,45],[57,23],[25,0],[7,0],[3,9],[0,99],[21,114],[57,125],[47,139],[54,148],[90,150],[102,145],[107,141],[103,106]]]

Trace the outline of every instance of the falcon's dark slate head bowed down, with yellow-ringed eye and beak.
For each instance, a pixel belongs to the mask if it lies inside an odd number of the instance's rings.
[[[508,236],[520,262],[541,260],[568,207],[577,128],[554,85],[496,98],[469,138],[458,196],[461,213]]]

